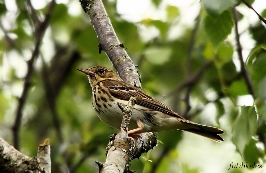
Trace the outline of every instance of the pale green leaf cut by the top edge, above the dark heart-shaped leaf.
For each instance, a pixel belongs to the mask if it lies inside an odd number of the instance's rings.
[[[214,14],[220,14],[221,12],[227,10],[229,7],[233,6],[235,0],[201,0],[204,8]]]

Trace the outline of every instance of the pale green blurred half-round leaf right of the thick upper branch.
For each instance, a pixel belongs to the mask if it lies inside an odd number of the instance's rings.
[[[172,50],[167,47],[150,47],[144,51],[144,56],[149,63],[162,65],[169,61]]]

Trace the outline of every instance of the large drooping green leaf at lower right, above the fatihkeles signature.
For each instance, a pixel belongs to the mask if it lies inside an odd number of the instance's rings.
[[[251,137],[255,135],[257,130],[257,115],[253,106],[242,106],[240,115],[235,120],[232,128],[232,141],[236,145],[241,156],[251,141]]]

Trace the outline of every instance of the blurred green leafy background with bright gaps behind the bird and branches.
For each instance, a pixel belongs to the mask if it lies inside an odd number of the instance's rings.
[[[248,2],[266,17],[263,0]],[[11,144],[27,61],[35,47],[34,16],[43,19],[48,4],[0,1],[0,136]],[[144,91],[186,118],[225,131],[220,144],[187,132],[159,132],[157,147],[132,161],[131,169],[222,173],[231,162],[255,162],[263,168],[228,172],[265,172],[266,30],[254,11],[234,0],[109,0],[104,5],[119,40],[139,66]],[[254,97],[237,54],[234,5]],[[19,131],[19,150],[29,156],[50,139],[53,172],[97,172],[94,161],[104,162],[108,136],[118,132],[97,118],[88,80],[76,70],[112,67],[97,45],[79,2],[57,0],[33,64]]]

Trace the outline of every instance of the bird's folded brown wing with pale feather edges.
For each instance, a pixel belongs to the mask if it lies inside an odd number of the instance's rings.
[[[137,87],[134,87],[132,85],[124,83],[123,81],[118,81],[118,80],[112,80],[112,81],[105,80],[103,84],[105,85],[105,87],[108,88],[110,94],[113,97],[128,101],[130,97],[137,96],[138,101],[136,104],[140,106],[144,106],[144,107],[147,107],[148,109],[160,111],[167,115],[174,116],[176,118],[184,119],[183,117],[179,116],[177,113],[169,109],[167,106],[165,106],[161,102],[145,94],[142,90],[138,89]]]

